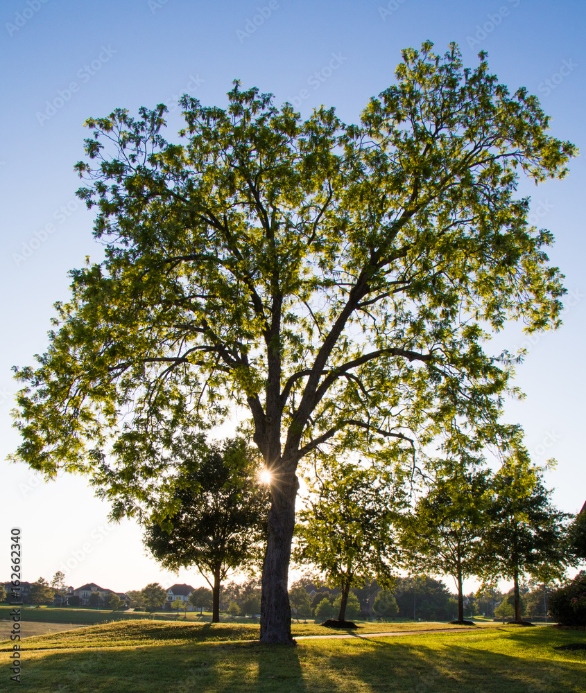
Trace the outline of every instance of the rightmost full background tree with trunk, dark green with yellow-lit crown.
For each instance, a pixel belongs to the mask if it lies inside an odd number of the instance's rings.
[[[567,544],[570,516],[551,505],[542,470],[530,464],[524,450],[506,460],[493,484],[483,574],[485,581],[512,579],[515,621],[521,621],[522,577],[546,582],[560,579],[575,561]]]

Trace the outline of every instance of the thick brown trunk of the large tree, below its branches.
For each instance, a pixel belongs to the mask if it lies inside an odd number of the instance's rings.
[[[272,503],[261,593],[261,642],[292,644],[291,605],[287,590],[291,542],[295,528],[295,498],[299,483],[293,465],[273,467]]]

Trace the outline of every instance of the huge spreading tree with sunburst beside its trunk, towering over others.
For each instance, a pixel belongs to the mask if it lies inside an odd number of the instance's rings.
[[[469,69],[432,46],[403,52],[356,125],[238,83],[227,109],[182,98],[179,143],[164,105],[87,121],[78,194],[105,259],[71,273],[48,351],[17,369],[15,457],[86,473],[130,514],[162,485],[171,502],[178,427],[247,407],[273,475],[263,642],[291,642],[300,459],[385,439],[411,455],[453,415],[491,439],[510,359],[485,330],[559,322],[552,236],[515,191],[563,177],[574,146],[485,54]]]

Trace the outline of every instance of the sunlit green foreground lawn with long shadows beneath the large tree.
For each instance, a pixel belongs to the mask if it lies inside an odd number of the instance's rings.
[[[586,644],[583,631],[499,626],[369,640],[304,640],[296,647],[217,641],[238,635],[242,627],[126,622],[34,638],[26,641],[38,649],[23,653],[20,690],[586,692],[586,651],[553,649]],[[0,691],[15,690],[7,662],[8,653],[0,653]]]

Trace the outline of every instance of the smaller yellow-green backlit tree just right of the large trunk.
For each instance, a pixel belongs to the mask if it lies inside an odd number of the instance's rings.
[[[345,620],[350,588],[377,579],[393,582],[393,522],[400,494],[388,473],[327,460],[295,529],[295,561],[313,563],[329,586],[341,590],[338,620]]]

